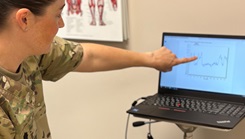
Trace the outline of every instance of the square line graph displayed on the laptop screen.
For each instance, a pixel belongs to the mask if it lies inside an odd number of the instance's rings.
[[[190,48],[187,50],[188,55],[198,56],[198,59],[188,64],[186,70],[188,76],[203,79],[227,79],[229,47],[199,44],[198,47],[192,46]]]

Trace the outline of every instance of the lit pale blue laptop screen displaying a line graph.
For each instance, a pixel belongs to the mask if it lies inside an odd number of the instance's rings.
[[[245,96],[245,37],[163,33],[162,45],[198,59],[160,72],[160,88]]]

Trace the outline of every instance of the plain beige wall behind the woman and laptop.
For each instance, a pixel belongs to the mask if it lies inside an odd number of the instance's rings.
[[[128,0],[130,39],[106,43],[134,51],[151,51],[161,45],[164,31],[234,34],[245,33],[243,0]],[[158,72],[130,68],[101,73],[71,73],[62,80],[45,82],[45,99],[54,139],[124,139],[126,110],[131,103],[156,93]],[[148,126],[133,128],[128,139],[146,139]],[[242,121],[234,130],[198,128],[196,139],[244,139]],[[182,139],[172,123],[152,125],[156,139]]]

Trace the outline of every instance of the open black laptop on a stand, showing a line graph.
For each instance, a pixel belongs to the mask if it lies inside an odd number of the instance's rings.
[[[159,73],[158,92],[132,106],[136,117],[233,129],[245,113],[245,36],[166,32],[162,46],[198,59]]]

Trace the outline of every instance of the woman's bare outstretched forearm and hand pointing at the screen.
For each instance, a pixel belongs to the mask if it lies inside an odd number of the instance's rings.
[[[166,47],[161,47],[153,52],[139,53],[93,43],[83,43],[82,46],[84,49],[83,60],[75,70],[79,72],[107,71],[129,67],[149,67],[167,72],[171,71],[175,65],[196,59],[196,57],[178,59]]]

